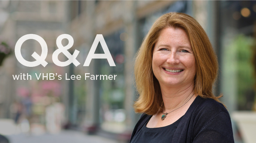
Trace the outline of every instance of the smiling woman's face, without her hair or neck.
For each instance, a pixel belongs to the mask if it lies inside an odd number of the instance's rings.
[[[152,68],[160,85],[194,83],[195,57],[183,29],[166,28],[161,32],[154,47]]]

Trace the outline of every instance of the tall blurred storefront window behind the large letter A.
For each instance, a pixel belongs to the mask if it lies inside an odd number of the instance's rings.
[[[115,80],[99,81],[100,123],[105,131],[120,133],[125,131],[125,81],[124,81],[124,42],[120,40],[123,30],[104,36],[105,42],[115,62],[115,67],[110,67],[107,59],[99,59],[99,74],[117,75]],[[102,47],[98,45],[98,54],[103,54]]]

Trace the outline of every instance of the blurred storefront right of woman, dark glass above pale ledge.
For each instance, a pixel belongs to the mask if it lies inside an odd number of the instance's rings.
[[[235,140],[252,143],[256,140],[252,134],[256,127],[256,2],[219,1],[218,13],[219,91],[236,123]]]

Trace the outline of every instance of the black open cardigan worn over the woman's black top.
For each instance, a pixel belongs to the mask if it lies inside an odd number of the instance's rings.
[[[141,116],[130,141],[150,117]],[[172,143],[234,143],[228,111],[214,99],[197,96],[181,119]]]

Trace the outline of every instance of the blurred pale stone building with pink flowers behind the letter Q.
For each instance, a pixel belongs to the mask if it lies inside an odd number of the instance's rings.
[[[57,48],[57,37],[65,33],[65,2],[1,1],[0,5],[1,10],[7,13],[5,23],[1,25],[0,40],[12,48],[12,55],[0,67],[0,117],[15,119],[17,124],[24,123],[26,127],[21,125],[21,132],[27,132],[29,128],[35,130],[36,134],[59,131],[64,122],[65,109],[61,102],[66,92],[64,83],[57,80],[55,74],[63,74],[65,69],[53,64],[51,55]],[[26,67],[16,60],[15,44],[26,34],[39,35],[47,43],[47,67]],[[31,55],[34,52],[40,55],[41,51],[40,44],[35,40],[22,44],[21,54],[27,61],[33,61]],[[64,56],[59,58],[63,59]],[[40,75],[39,79],[35,73]],[[54,80],[49,79],[50,73],[55,75]],[[22,78],[17,80],[13,75]]]

